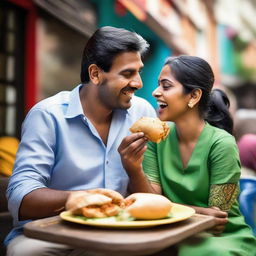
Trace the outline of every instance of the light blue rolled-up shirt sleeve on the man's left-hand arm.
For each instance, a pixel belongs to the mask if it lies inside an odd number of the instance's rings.
[[[40,108],[32,109],[22,126],[22,140],[6,192],[8,207],[15,222],[19,218],[23,197],[47,186],[54,164],[55,141],[51,114]]]

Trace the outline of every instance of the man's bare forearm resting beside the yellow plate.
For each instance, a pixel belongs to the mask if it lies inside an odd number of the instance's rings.
[[[59,214],[64,210],[70,191],[40,188],[24,196],[19,220],[39,219]]]

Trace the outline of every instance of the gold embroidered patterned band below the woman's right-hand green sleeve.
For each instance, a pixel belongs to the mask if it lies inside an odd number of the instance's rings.
[[[210,188],[209,206],[217,206],[222,211],[229,211],[238,193],[237,184],[213,184]]]

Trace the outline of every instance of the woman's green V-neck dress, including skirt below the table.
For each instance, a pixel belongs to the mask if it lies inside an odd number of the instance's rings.
[[[183,168],[175,124],[159,144],[148,143],[143,169],[152,183],[175,203],[209,207],[212,184],[238,183],[240,161],[233,136],[206,123],[189,162]],[[256,255],[256,239],[245,224],[236,200],[228,212],[228,223],[221,235],[204,234],[198,244],[188,241],[179,246],[179,255],[218,256]]]

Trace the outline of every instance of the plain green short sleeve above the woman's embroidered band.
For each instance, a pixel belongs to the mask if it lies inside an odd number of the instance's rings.
[[[235,139],[225,135],[212,145],[209,157],[210,184],[237,183],[240,160]]]

